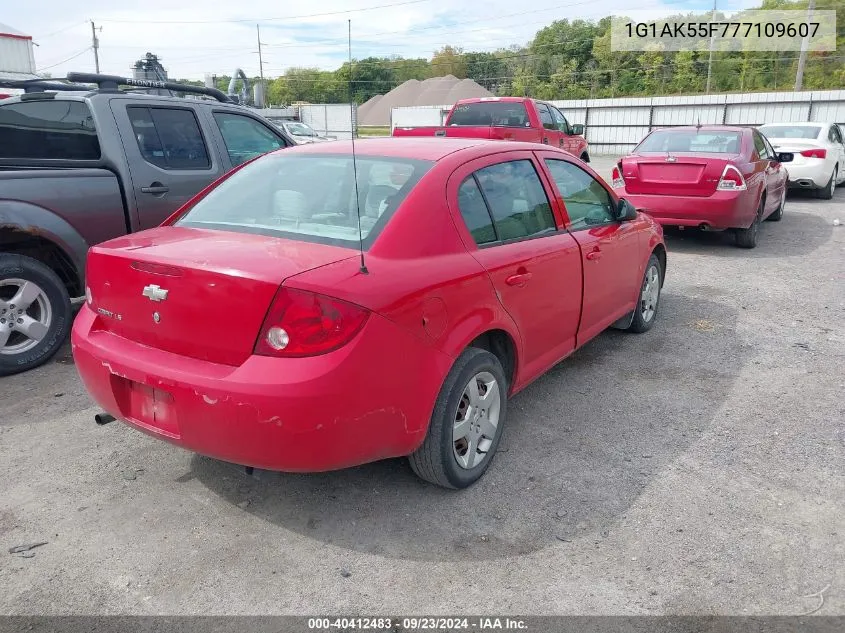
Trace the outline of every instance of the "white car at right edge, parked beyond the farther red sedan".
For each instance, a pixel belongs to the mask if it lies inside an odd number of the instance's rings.
[[[836,123],[766,123],[757,129],[776,152],[795,155],[785,165],[790,188],[812,189],[830,200],[836,186],[845,182],[845,143]]]

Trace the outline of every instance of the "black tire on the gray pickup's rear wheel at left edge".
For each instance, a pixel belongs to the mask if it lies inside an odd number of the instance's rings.
[[[0,376],[24,372],[50,360],[67,339],[72,320],[70,298],[65,285],[56,273],[38,260],[24,255],[0,254],[0,282],[10,279],[30,281],[39,286],[43,290],[46,302],[49,303],[52,317],[47,333],[37,345],[20,353],[0,353]],[[0,291],[3,289],[4,287],[0,285]],[[4,305],[9,298],[11,297],[0,294],[0,300],[4,301]],[[0,308],[2,309],[8,310],[8,308]],[[0,327],[6,327],[8,312],[0,314],[0,320],[4,321],[0,323]]]

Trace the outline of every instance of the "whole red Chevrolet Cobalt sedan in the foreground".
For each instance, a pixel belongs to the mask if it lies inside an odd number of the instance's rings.
[[[654,323],[662,230],[570,154],[356,150],[268,154],[91,249],[73,353],[106,419],[272,470],[410,456],[462,488],[510,397],[607,327]]]

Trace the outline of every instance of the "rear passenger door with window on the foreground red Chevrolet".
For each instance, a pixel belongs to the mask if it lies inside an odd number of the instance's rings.
[[[575,347],[578,244],[560,230],[530,152],[499,154],[460,168],[450,179],[449,201],[467,248],[519,329],[517,380],[531,380]]]

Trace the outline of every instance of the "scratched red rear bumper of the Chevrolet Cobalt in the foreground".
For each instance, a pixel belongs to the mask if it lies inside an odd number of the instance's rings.
[[[86,388],[108,413],[159,439],[236,464],[316,472],[413,452],[451,359],[371,315],[343,348],[250,356],[239,367],[105,331],[85,306],[72,334]]]

